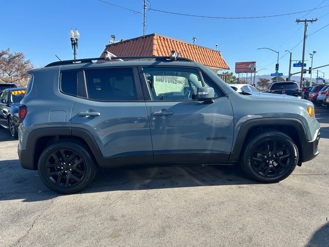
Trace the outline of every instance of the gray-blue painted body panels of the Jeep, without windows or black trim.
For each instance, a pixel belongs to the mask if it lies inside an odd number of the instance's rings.
[[[200,107],[200,103],[195,102],[161,102],[161,103],[136,103],[130,102],[118,105],[116,103],[105,102],[83,102],[83,99],[64,95],[59,91],[59,74],[61,69],[81,69],[81,68],[99,68],[108,66],[184,66],[194,67],[202,70],[224,93],[224,97],[216,99],[214,103],[206,108]],[[21,149],[25,150],[27,145],[27,136],[32,130],[56,126],[56,127],[80,127],[87,129],[95,137],[99,148],[104,156],[116,155],[119,153],[133,151],[149,151],[168,148],[179,148],[177,141],[187,145],[190,149],[198,149],[200,146],[205,149],[221,150],[223,152],[232,151],[235,139],[239,129],[245,121],[252,118],[296,118],[303,122],[306,130],[307,139],[313,140],[319,130],[319,123],[315,116],[310,117],[307,113],[307,107],[313,104],[302,99],[291,99],[287,96],[273,95],[240,95],[231,87],[215,75],[209,68],[202,64],[186,61],[125,61],[125,62],[105,62],[105,63],[87,63],[71,64],[62,66],[51,66],[42,69],[29,70],[34,74],[34,82],[31,92],[25,96],[23,103],[28,107],[28,114],[20,125],[19,136]],[[49,75],[52,75],[49,76]],[[50,91],[50,92],[49,92]],[[49,92],[45,93],[45,92]],[[76,102],[74,104],[74,102]],[[73,106],[74,105],[74,106]],[[115,107],[116,111],[107,111],[105,109]],[[168,121],[153,121],[150,112],[161,108],[173,108],[175,116]],[[93,119],[84,119],[78,117],[79,111],[93,109],[101,111],[101,117]],[[121,109],[121,110],[120,110]],[[122,110],[124,109],[124,110]],[[62,122],[49,123],[49,113],[51,111],[64,111],[66,118]],[[123,114],[124,113],[124,114]],[[187,133],[181,131],[187,128],[184,114],[193,113],[191,116],[192,128]],[[32,116],[32,117],[30,117]],[[200,120],[198,117],[200,117]],[[147,119],[150,119],[151,129]],[[120,120],[119,120],[120,119]],[[108,121],[112,121],[112,126],[108,126]],[[165,125],[166,128],[155,130],[155,126]],[[174,126],[172,135],[168,135],[165,130]],[[212,125],[212,126],[211,126]],[[197,128],[199,127],[199,128]],[[189,127],[190,128],[190,127]],[[120,131],[119,131],[120,130]],[[114,133],[108,133],[114,131]],[[155,137],[152,147],[151,134]],[[115,134],[115,133],[119,134]],[[134,133],[134,134],[132,134]],[[192,134],[195,135],[193,136]],[[207,140],[207,136],[226,136],[223,141]],[[190,136],[189,138],[187,138]],[[138,141],[135,141],[138,139]],[[192,140],[192,142],[191,142]],[[173,145],[174,147],[171,147]],[[131,145],[130,145],[131,144]],[[137,145],[137,147],[136,147]],[[205,145],[205,146],[203,146]],[[184,147],[186,148],[186,147]]]

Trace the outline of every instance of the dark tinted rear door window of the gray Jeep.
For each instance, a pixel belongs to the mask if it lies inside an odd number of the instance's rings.
[[[132,68],[106,68],[85,70],[89,99],[137,100]]]

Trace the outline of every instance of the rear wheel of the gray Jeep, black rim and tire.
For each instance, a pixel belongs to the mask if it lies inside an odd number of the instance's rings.
[[[87,187],[96,176],[92,154],[83,146],[61,141],[41,154],[38,171],[42,182],[59,193],[75,193]]]

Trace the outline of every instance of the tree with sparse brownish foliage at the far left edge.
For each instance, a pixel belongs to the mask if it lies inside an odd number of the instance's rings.
[[[31,68],[31,61],[22,52],[10,52],[9,48],[0,51],[0,82],[26,86],[29,75],[25,72]]]

